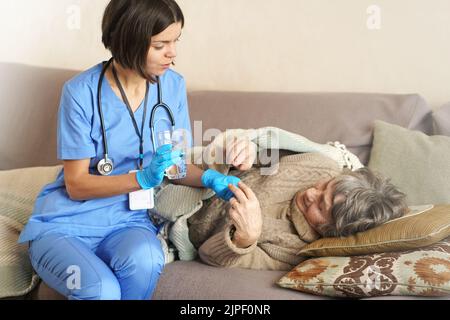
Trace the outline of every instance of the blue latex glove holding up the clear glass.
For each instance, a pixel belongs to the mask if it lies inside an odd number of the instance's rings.
[[[173,166],[183,156],[181,150],[172,151],[170,144],[158,148],[150,165],[136,173],[136,179],[141,188],[148,190],[159,186],[164,180],[166,169]]]

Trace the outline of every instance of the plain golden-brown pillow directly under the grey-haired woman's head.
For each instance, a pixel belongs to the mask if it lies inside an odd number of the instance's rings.
[[[450,205],[410,207],[408,214],[349,237],[322,238],[300,251],[302,256],[327,257],[404,251],[450,236]]]

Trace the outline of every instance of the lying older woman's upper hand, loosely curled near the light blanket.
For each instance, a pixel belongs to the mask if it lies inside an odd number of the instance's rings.
[[[248,138],[233,137],[227,144],[226,163],[240,171],[249,170],[256,160],[256,144]]]

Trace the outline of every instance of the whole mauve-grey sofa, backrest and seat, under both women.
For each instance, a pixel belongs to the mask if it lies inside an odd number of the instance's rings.
[[[0,170],[54,166],[60,90],[72,70],[0,64]],[[189,82],[189,79],[187,79]],[[433,134],[432,110],[418,94],[269,93],[195,91],[188,93],[194,143],[207,144],[209,128],[278,127],[312,141],[339,141],[368,164],[374,120]],[[199,122],[201,121],[201,123]],[[197,123],[196,123],[197,122]],[[286,272],[223,269],[199,261],[167,264],[154,300],[332,299],[276,285]],[[63,299],[40,282],[24,297]],[[416,299],[378,297],[370,299]]]

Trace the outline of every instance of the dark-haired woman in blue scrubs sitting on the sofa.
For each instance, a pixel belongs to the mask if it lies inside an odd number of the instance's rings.
[[[186,85],[170,69],[183,26],[183,13],[173,0],[112,0],[102,24],[111,63],[100,63],[64,85],[57,136],[64,168],[39,194],[19,242],[29,243],[32,265],[43,281],[68,299],[152,297],[164,267],[158,225],[147,210],[129,209],[129,194],[158,187],[164,171],[183,157],[168,146],[153,150],[149,127],[159,78],[175,128],[190,133]],[[170,128],[169,120],[159,108],[155,131]],[[108,176],[97,167],[105,153],[114,164]],[[236,154],[235,166],[250,167],[244,163],[248,160]],[[239,179],[187,165],[187,176],[175,182],[211,188],[229,200],[228,186]]]

